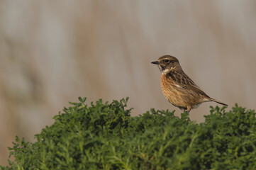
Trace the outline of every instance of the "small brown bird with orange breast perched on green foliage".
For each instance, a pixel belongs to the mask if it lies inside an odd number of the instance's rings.
[[[187,113],[189,113],[191,108],[196,108],[196,106],[206,101],[215,101],[228,106],[221,101],[209,97],[199,86],[196,86],[194,81],[183,72],[176,57],[164,55],[156,62],[151,63],[157,64],[162,72],[162,93],[172,105],[184,109]]]

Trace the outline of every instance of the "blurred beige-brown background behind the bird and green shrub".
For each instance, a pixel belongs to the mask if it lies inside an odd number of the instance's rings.
[[[182,111],[150,62],[174,55],[229,110],[255,108],[256,1],[0,1],[0,164],[15,136],[34,135],[69,101],[129,96],[133,115]],[[200,123],[204,103],[190,112]]]

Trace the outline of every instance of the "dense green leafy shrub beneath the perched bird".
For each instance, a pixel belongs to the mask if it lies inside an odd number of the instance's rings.
[[[16,137],[1,169],[256,169],[255,111],[211,107],[205,123],[151,109],[131,117],[128,98],[79,103],[55,115],[37,142]]]

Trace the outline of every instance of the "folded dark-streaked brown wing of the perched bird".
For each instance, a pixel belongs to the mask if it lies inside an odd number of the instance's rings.
[[[196,86],[196,84],[194,83],[193,80],[191,80],[187,74],[185,74],[183,71],[182,72],[169,72],[167,74],[167,77],[170,77],[172,79],[172,81],[174,81],[174,83],[177,86],[180,86],[183,89],[187,89],[187,90],[191,90],[196,92],[196,94],[201,94],[202,96],[206,96],[206,98],[210,98],[207,94],[204,93],[204,91],[202,91],[199,86]]]

